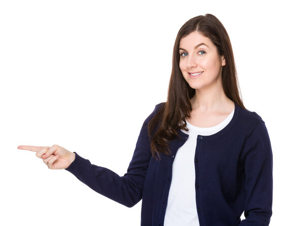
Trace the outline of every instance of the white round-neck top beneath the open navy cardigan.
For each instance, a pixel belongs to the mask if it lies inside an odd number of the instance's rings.
[[[186,121],[189,134],[185,143],[177,150],[172,166],[172,180],[168,196],[164,226],[200,225],[195,193],[194,156],[198,135],[212,135],[222,130],[233,118],[234,110],[220,124],[202,128]]]

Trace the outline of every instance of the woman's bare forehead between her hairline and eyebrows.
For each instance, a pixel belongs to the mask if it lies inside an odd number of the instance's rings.
[[[214,46],[208,37],[202,35],[197,31],[194,31],[180,40],[179,47],[183,49],[194,49],[194,47],[200,43],[205,43],[209,48]]]

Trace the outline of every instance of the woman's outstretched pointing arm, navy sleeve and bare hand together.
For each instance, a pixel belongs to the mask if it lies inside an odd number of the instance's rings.
[[[105,167],[93,165],[89,160],[59,145],[19,146],[18,148],[31,147],[30,150],[36,151],[36,156],[42,158],[50,169],[66,169],[97,193],[127,207],[132,207],[142,198],[145,175],[151,159],[147,124],[155,115],[157,106],[142,125],[132,160],[124,176],[119,176]]]

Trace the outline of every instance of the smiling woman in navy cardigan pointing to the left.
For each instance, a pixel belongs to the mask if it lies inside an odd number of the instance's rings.
[[[167,102],[144,121],[124,176],[58,145],[18,148],[125,206],[142,199],[141,225],[269,225],[272,215],[268,131],[240,99],[229,36],[211,14],[180,28]]]

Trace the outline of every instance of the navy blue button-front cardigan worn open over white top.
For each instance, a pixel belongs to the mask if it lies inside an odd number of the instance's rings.
[[[96,166],[76,154],[66,168],[91,189],[127,207],[142,199],[141,225],[163,225],[172,176],[172,163],[188,135],[178,131],[170,156],[151,156],[144,121],[124,176]],[[203,226],[267,226],[272,215],[272,148],[265,123],[256,112],[235,103],[230,123],[219,132],[197,137],[195,152],[196,203]],[[240,219],[244,212],[246,219]]]

